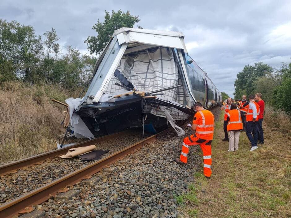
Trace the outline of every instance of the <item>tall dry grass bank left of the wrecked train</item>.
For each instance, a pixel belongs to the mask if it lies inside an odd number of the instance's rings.
[[[0,84],[0,163],[54,149],[66,108],[50,98],[69,95],[57,86]]]

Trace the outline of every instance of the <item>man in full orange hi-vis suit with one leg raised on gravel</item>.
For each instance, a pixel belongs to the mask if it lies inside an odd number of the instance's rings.
[[[196,113],[193,119],[192,130],[195,130],[195,133],[184,139],[180,159],[176,158],[175,161],[178,164],[186,164],[189,147],[192,145],[200,145],[203,152],[204,176],[210,178],[212,173],[211,142],[214,132],[214,116],[209,110],[204,109],[199,102],[194,104],[194,110]]]

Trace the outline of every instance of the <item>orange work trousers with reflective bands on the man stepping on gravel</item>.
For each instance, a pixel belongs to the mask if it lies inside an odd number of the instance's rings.
[[[184,163],[187,163],[187,155],[189,153],[189,147],[191,145],[200,145],[203,152],[203,173],[205,176],[211,176],[211,142],[212,140],[199,139],[195,134],[186,137],[183,141],[182,152],[180,155],[180,160]]]

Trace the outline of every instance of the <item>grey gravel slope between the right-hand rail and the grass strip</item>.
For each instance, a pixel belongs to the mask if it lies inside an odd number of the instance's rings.
[[[218,108],[212,109],[215,116]],[[217,111],[217,113],[216,113]],[[192,130],[186,127],[186,134]],[[36,206],[46,217],[177,217],[174,195],[185,193],[195,172],[202,172],[202,153],[192,146],[188,164],[174,162],[180,156],[182,140],[174,132],[158,137],[109,168],[96,173],[95,183],[70,186],[79,192],[72,199],[58,197]]]

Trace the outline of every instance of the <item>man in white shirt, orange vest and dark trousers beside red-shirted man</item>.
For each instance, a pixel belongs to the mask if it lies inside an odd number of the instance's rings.
[[[250,140],[250,143],[252,145],[250,151],[254,151],[258,148],[257,143],[258,143],[258,130],[257,130],[257,106],[256,102],[254,101],[254,95],[251,94],[249,96],[249,109],[246,114],[246,128],[245,128],[245,134]]]

